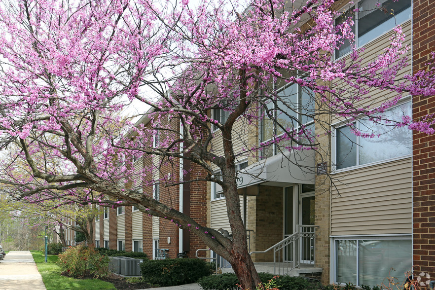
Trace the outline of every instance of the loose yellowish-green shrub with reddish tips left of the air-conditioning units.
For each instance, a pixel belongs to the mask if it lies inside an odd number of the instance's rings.
[[[108,274],[109,257],[80,245],[70,247],[64,253],[59,254],[57,264],[68,276],[85,277],[91,275],[103,277]]]

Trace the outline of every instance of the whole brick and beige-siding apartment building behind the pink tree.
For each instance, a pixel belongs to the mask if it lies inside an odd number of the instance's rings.
[[[382,53],[395,25],[400,24],[406,35],[405,43],[412,47],[409,56],[412,54],[413,61],[400,75],[424,68],[435,47],[435,8],[431,8],[428,0],[379,1],[395,11],[394,17],[373,9],[377,1],[337,2],[343,11],[357,8],[353,16],[355,41],[358,47],[365,47],[365,61]],[[336,22],[342,19],[339,16]],[[349,57],[349,52],[349,45],[344,44],[336,50],[334,58]],[[297,96],[295,102],[304,102],[304,92],[297,85],[282,84],[282,94],[289,94],[289,90]],[[372,107],[396,96],[381,90],[371,94]],[[434,97],[406,96],[385,116],[399,120],[404,114],[420,118],[433,112]],[[223,110],[212,113],[221,121],[226,117]],[[293,275],[316,277],[325,284],[370,286],[389,276],[403,280],[404,273],[412,269],[435,277],[434,136],[405,128],[391,130],[364,118],[353,121],[362,131],[382,132],[380,138],[365,139],[353,135],[346,120],[336,116],[326,118],[332,124],[328,130],[310,119],[303,120],[321,136],[318,138],[321,154],[306,151],[283,156],[270,146],[256,158],[248,154],[238,157],[241,215],[259,271],[273,271],[275,266],[275,271],[284,272],[281,268],[286,267]],[[146,123],[146,117],[140,122]],[[273,125],[267,120],[256,125],[238,121],[234,127],[235,147],[267,141],[270,130],[274,130],[270,128]],[[223,150],[219,138],[217,134],[215,152]],[[144,160],[134,163],[138,170],[144,164]],[[190,169],[191,164],[180,164],[180,168]],[[217,167],[213,169],[218,175]],[[153,174],[165,174],[162,172]],[[130,183],[126,186],[141,187],[141,181]],[[155,196],[162,200],[171,198],[174,208],[189,212],[207,226],[230,232],[219,185],[184,184],[174,187],[172,192],[143,187],[154,194],[159,192]],[[182,251],[194,256],[197,249],[206,248],[188,232],[128,207],[108,209],[96,222],[95,232],[97,247],[143,251],[150,257],[155,257],[156,249],[169,249],[169,255],[175,257]],[[258,253],[274,245],[280,250]],[[224,261],[219,263],[224,266]]]

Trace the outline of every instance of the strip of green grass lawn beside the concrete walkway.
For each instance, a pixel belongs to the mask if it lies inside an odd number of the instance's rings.
[[[45,263],[45,257],[42,251],[31,251],[31,253],[47,290],[116,289],[112,283],[104,282],[98,279],[74,279],[61,276],[61,270],[59,266],[56,265],[57,255],[48,255],[47,263]]]

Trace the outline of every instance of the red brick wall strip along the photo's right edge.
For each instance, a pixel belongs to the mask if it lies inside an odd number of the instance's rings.
[[[424,69],[435,50],[435,6],[413,2],[413,71]],[[435,112],[435,96],[413,96],[412,114],[420,119]],[[414,131],[413,142],[413,265],[414,272],[435,277],[435,136]]]

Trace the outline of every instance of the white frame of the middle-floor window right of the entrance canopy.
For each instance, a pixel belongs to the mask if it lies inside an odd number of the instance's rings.
[[[405,105],[405,104],[409,104],[409,108],[411,110],[412,113],[412,101],[410,96],[404,97],[402,98],[402,101],[399,102],[397,105],[392,106],[391,108],[387,109],[386,111],[390,110],[390,109],[394,109],[397,108],[401,105]],[[361,118],[356,119],[355,121],[351,122],[351,123],[356,123],[355,127],[357,130],[360,129],[360,124],[362,120],[367,119],[367,116],[363,116]],[[348,167],[344,167],[344,168],[339,168],[337,169],[337,136],[338,136],[338,130],[341,128],[344,128],[347,126],[348,123],[346,122],[338,122],[336,124],[333,124],[331,127],[333,127],[333,136],[331,138],[331,160],[333,162],[332,164],[332,168],[331,168],[331,173],[340,173],[340,172],[346,172],[346,171],[350,171],[350,170],[355,170],[358,168],[364,168],[364,167],[368,167],[368,166],[373,166],[376,164],[382,164],[382,163],[387,163],[387,162],[392,162],[395,160],[400,160],[400,159],[405,159],[405,158],[409,158],[412,156],[412,147],[411,147],[411,152],[409,154],[404,154],[404,155],[400,155],[400,156],[396,156],[396,157],[392,157],[392,158],[387,158],[387,159],[382,159],[382,160],[377,160],[374,162],[368,162],[368,163],[364,163],[364,164],[359,164],[359,154],[360,154],[360,138],[359,136],[356,136],[356,142],[355,142],[355,146],[356,146],[356,165],[353,166],[348,166]],[[353,133],[352,133],[353,134]],[[411,139],[409,140],[412,144],[412,133],[411,134]],[[353,135],[355,136],[355,135]]]

